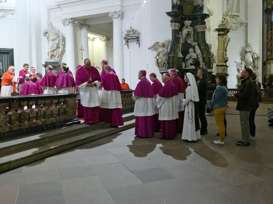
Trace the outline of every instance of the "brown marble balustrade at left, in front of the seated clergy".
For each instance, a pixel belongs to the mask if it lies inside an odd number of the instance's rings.
[[[72,93],[0,97],[0,141],[7,139],[7,135],[14,135],[14,132],[18,134],[13,137],[20,137],[26,135],[26,132],[32,132],[31,130],[37,132],[35,129],[39,126],[48,127],[50,124],[73,121],[76,118],[77,95]]]

